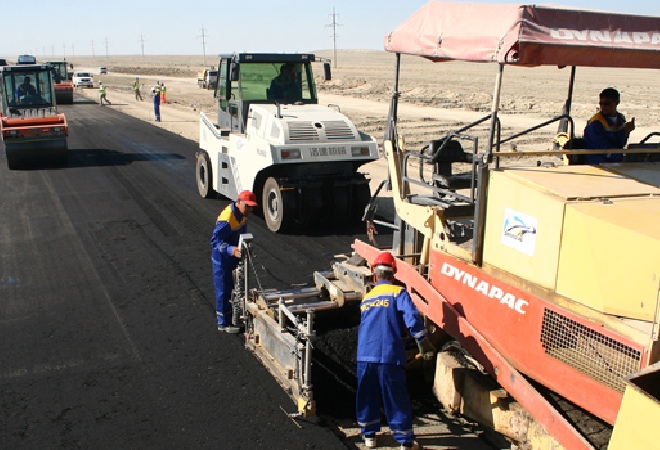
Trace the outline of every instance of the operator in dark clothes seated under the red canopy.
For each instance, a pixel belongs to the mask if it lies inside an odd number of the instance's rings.
[[[635,129],[635,118],[626,122],[626,118],[617,111],[621,97],[619,91],[609,87],[599,96],[598,111],[584,129],[584,144],[587,149],[623,149],[628,142],[630,132]],[[598,165],[608,162],[621,162],[621,153],[601,153],[584,155],[585,163]]]

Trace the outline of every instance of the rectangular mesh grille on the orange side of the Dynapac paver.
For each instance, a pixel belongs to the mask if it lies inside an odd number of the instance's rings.
[[[623,392],[623,378],[641,367],[641,353],[549,309],[543,315],[545,353],[610,388]]]

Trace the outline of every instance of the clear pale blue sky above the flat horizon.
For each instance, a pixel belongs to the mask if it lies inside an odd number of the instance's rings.
[[[382,49],[383,37],[426,0],[33,0],[27,14],[5,5],[0,57],[206,55]],[[506,3],[498,1],[492,3]],[[533,4],[535,2],[527,2]],[[660,16],[660,1],[567,0],[561,3]],[[537,3],[541,4],[541,3]],[[15,3],[12,8],[19,8]],[[11,19],[10,19],[11,17]],[[202,29],[204,29],[202,31]]]

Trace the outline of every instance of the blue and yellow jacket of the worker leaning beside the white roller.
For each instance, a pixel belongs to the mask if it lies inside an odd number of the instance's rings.
[[[247,217],[236,208],[236,203],[227,205],[218,215],[211,236],[213,251],[211,259],[222,264],[225,270],[234,270],[239,259],[232,256],[234,247],[238,246],[238,238],[247,231]]]

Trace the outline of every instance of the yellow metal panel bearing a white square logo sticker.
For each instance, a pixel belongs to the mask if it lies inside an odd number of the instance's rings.
[[[554,289],[564,200],[518,172],[491,172],[484,262]]]

